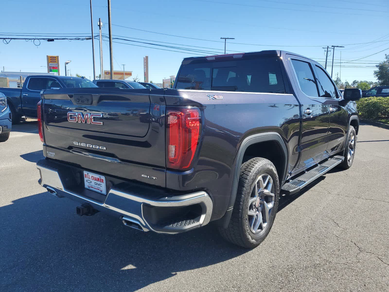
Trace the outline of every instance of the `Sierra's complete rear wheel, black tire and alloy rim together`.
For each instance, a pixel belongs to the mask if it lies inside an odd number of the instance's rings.
[[[274,164],[256,157],[240,169],[238,192],[231,220],[221,235],[245,248],[258,246],[272,228],[278,209],[280,183]]]

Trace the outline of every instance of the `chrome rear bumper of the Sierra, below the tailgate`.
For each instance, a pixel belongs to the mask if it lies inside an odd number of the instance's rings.
[[[67,197],[81,203],[88,202],[93,208],[120,218],[123,220],[124,225],[133,227],[128,223],[138,224],[140,228],[137,229],[142,229],[143,231],[152,230],[158,233],[176,234],[206,225],[209,223],[212,215],[212,200],[204,191],[151,200],[132,195],[128,191],[124,192],[123,190],[111,188],[105,201],[97,202],[67,190],[61,180],[60,169],[54,166],[51,167],[46,160],[37,162],[37,169],[40,172],[39,184],[46,188],[49,193],[56,197]],[[193,205],[199,205],[200,208],[196,208],[196,210],[201,211],[196,218],[191,218],[190,220],[184,219],[181,222],[158,225],[152,223],[153,220],[145,216],[145,213],[149,213],[147,210],[154,207],[158,210],[166,208],[165,213],[166,210],[169,213],[170,209],[179,210],[180,207]],[[145,209],[147,210],[145,211]]]

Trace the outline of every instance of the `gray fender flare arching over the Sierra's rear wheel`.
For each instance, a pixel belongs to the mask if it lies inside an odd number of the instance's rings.
[[[254,134],[246,137],[240,144],[240,147],[237,152],[237,158],[235,160],[234,175],[233,175],[233,181],[232,181],[232,187],[230,193],[230,201],[228,202],[226,214],[221,218],[222,221],[221,224],[223,228],[227,228],[228,223],[230,222],[231,219],[232,210],[235,204],[235,199],[237,197],[240,168],[242,167],[242,160],[246,149],[252,144],[257,144],[260,142],[268,142],[268,141],[277,142],[280,145],[281,149],[283,150],[282,152],[284,155],[285,163],[284,163],[284,170],[282,172],[282,178],[280,178],[280,187],[282,185],[282,182],[286,178],[287,165],[288,165],[288,152],[287,152],[285,142],[280,136],[280,134],[278,134],[277,132],[266,132],[266,133],[259,133],[259,134]]]

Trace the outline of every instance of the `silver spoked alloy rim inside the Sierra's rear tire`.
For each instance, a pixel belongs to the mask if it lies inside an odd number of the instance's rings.
[[[249,199],[247,215],[249,215],[249,226],[252,233],[258,234],[266,229],[273,206],[273,179],[269,174],[262,174],[252,186]]]

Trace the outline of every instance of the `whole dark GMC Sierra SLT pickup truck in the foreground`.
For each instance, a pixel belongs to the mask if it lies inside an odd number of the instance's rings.
[[[166,234],[214,222],[254,248],[280,193],[352,165],[360,97],[277,50],[185,58],[173,89],[44,90],[39,184],[78,215]]]

